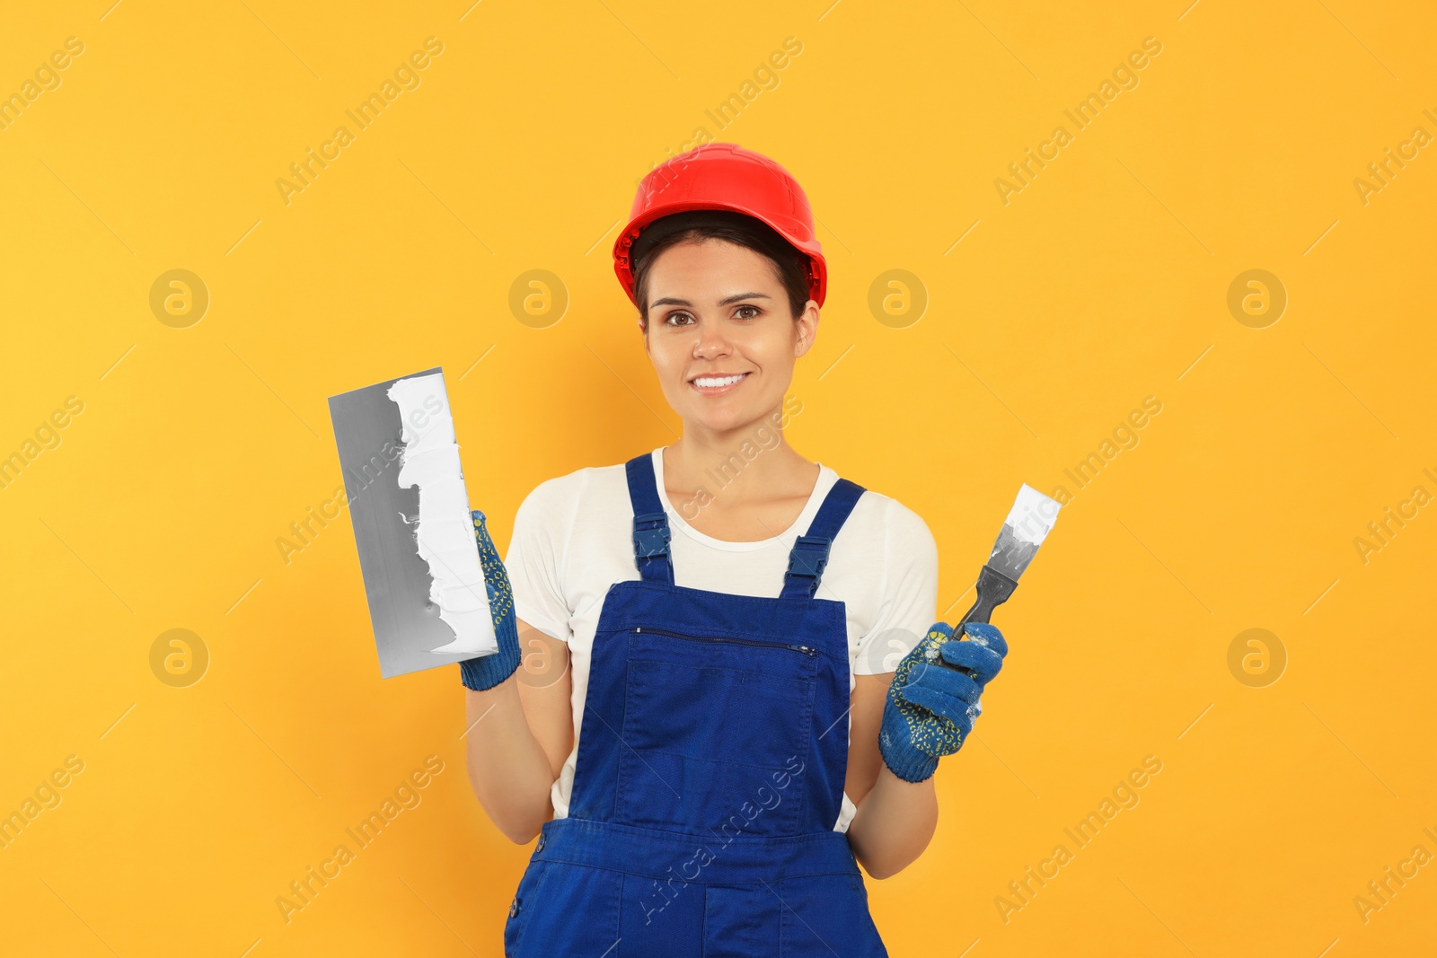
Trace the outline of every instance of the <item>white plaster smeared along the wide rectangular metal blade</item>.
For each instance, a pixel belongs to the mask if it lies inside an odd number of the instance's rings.
[[[438,606],[440,619],[454,632],[453,642],[430,651],[445,655],[496,652],[499,641],[474,541],[444,373],[397,379],[385,395],[399,406],[404,424],[399,488],[417,485],[420,490],[415,547],[430,567],[430,602]]]

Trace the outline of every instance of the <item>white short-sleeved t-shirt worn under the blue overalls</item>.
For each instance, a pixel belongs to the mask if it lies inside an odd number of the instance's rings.
[[[813,494],[793,526],[776,537],[723,541],[690,526],[670,503],[662,455],[662,447],[651,454],[654,484],[668,514],[674,585],[776,597],[783,590],[789,550],[808,531],[823,497],[838,483],[838,473],[818,464]],[[546,480],[514,514],[504,559],[514,590],[514,615],[566,642],[573,669],[573,751],[553,783],[556,819],[569,813],[593,633],[604,597],[615,582],[641,577],[634,563],[632,523],[622,462]],[[933,533],[897,500],[865,490],[833,540],[815,597],[844,602],[851,676],[892,672],[935,622],[938,547]],[[849,691],[855,684],[849,678]],[[846,832],[855,811],[845,794],[833,829]]]

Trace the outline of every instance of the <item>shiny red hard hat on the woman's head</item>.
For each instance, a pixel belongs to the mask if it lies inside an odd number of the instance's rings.
[[[730,210],[762,220],[803,254],[809,296],[822,306],[828,293],[823,247],[813,236],[813,211],[789,171],[762,154],[734,144],[703,144],[654,167],[638,185],[629,223],[614,241],[614,271],[634,299],[629,248],[660,217],[690,210]]]

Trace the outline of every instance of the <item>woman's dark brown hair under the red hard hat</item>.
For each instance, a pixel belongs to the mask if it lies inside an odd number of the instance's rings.
[[[648,271],[658,254],[680,243],[724,240],[769,259],[773,273],[789,294],[793,319],[809,300],[805,257],[767,223],[730,210],[690,210],[654,220],[644,227],[631,250],[634,261],[634,299],[639,303],[639,322],[648,332]]]

